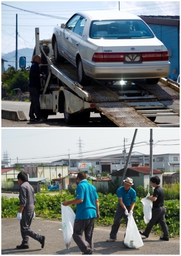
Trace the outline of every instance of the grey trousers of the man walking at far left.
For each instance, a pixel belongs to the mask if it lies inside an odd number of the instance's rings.
[[[21,236],[23,238],[22,245],[29,245],[29,236],[37,240],[38,242],[41,242],[42,240],[42,235],[38,235],[30,228],[33,219],[33,214],[34,210],[23,209],[22,219],[20,220]]]

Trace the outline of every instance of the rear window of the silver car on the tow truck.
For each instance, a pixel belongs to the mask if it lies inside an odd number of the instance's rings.
[[[93,21],[89,37],[93,39],[153,38],[154,35],[142,20]]]

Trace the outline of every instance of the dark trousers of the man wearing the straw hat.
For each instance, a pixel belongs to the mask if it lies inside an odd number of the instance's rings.
[[[126,206],[128,213],[130,212],[130,206]],[[115,239],[117,238],[117,232],[120,227],[120,221],[122,218],[125,218],[126,220],[126,227],[128,224],[128,216],[125,214],[125,209],[123,209],[120,205],[117,206],[117,210],[114,216],[114,223],[111,228],[110,238]]]

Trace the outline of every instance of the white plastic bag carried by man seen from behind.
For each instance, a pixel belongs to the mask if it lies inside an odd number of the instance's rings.
[[[61,204],[62,210],[62,229],[64,235],[64,241],[67,249],[70,247],[71,238],[73,234],[73,225],[76,218],[72,208],[70,206],[64,206]]]

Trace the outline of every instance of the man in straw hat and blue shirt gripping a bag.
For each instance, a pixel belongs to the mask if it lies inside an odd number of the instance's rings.
[[[124,217],[126,220],[126,226],[128,223],[128,215],[132,214],[135,202],[137,202],[137,194],[132,187],[132,178],[126,178],[124,186],[117,189],[118,206],[114,216],[114,223],[111,228],[110,238],[107,242],[113,242],[117,240],[117,232],[120,227],[120,221]]]

